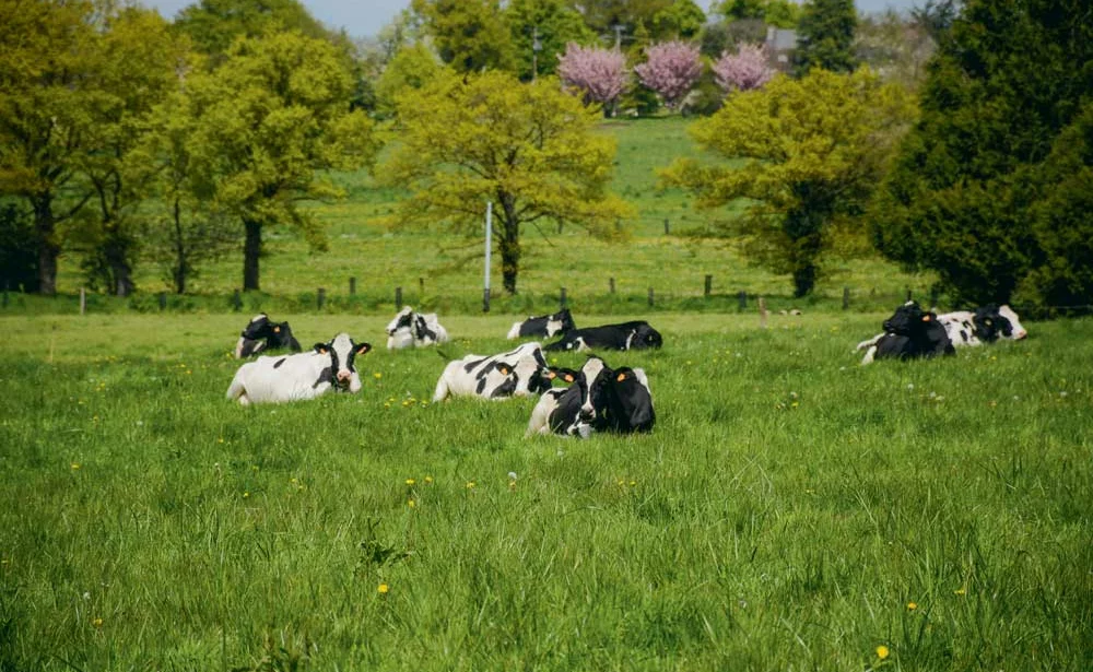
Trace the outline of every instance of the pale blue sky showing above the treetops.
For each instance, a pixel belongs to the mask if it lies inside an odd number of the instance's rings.
[[[375,35],[379,28],[390,23],[399,11],[410,5],[410,0],[302,0],[312,15],[332,28],[345,28],[353,37]],[[879,12],[886,7],[897,10],[910,9],[922,4],[925,0],[855,0],[858,9],[865,12]],[[143,0],[148,7],[160,10],[166,19],[174,19],[178,10],[192,0]],[[710,2],[698,0],[698,4],[708,7]]]

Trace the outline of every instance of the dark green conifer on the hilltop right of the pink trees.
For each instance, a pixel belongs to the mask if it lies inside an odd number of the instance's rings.
[[[854,32],[858,14],[854,0],[812,0],[804,5],[794,51],[794,68],[798,76],[814,68],[832,72],[853,72]]]

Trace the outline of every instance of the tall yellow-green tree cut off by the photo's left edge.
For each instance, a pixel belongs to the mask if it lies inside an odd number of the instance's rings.
[[[0,0],[0,193],[33,213],[38,291],[57,291],[58,226],[93,191],[78,165],[102,96],[90,2]]]

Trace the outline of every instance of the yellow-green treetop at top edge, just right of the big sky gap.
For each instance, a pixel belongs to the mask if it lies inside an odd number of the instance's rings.
[[[498,0],[412,0],[440,60],[457,72],[512,70],[515,47]]]

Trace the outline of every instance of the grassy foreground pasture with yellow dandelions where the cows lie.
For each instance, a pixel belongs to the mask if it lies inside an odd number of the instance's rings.
[[[1093,320],[860,367],[886,316],[659,314],[606,353],[655,432],[577,441],[277,317],[362,392],[228,403],[247,316],[0,318],[0,670],[1089,669]]]

